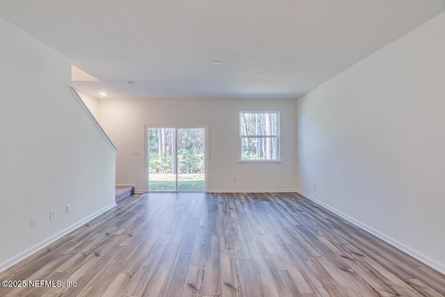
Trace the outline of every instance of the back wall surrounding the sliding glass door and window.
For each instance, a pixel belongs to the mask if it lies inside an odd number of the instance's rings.
[[[282,162],[238,162],[242,110],[280,111]],[[119,147],[116,184],[144,191],[144,125],[209,126],[209,191],[295,191],[296,100],[101,99],[100,124]],[[140,156],[132,156],[138,150]],[[234,182],[236,178],[236,182]]]

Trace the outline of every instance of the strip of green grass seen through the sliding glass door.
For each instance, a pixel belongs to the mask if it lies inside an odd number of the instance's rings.
[[[175,175],[149,174],[149,191],[175,191]],[[204,190],[204,174],[178,175],[179,190]]]

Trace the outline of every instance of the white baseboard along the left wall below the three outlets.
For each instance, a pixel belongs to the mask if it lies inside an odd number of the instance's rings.
[[[79,222],[75,223],[74,225],[67,227],[66,229],[54,234],[53,236],[49,237],[48,239],[45,239],[44,241],[36,244],[35,246],[29,248],[28,250],[25,250],[24,252],[21,252],[19,255],[13,257],[12,259],[7,260],[6,262],[3,262],[0,264],[0,273],[3,271],[6,271],[6,269],[10,268],[11,266],[19,263],[26,257],[29,257],[33,255],[35,252],[38,252],[45,246],[48,246],[49,244],[53,243],[54,241],[60,239],[60,237],[65,236],[66,234],[72,232],[73,230],[76,230],[78,227],[81,227],[81,225],[89,222],[93,218],[96,218],[97,216],[100,216],[101,214],[104,214],[105,211],[108,211],[116,206],[116,203],[113,202],[107,207],[104,207],[103,209],[96,211],[94,214],[84,218],[83,220],[80,220]]]

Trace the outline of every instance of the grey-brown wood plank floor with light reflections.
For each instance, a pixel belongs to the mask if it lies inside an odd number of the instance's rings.
[[[0,280],[27,285],[0,296],[445,296],[445,275],[295,193],[133,195]]]

